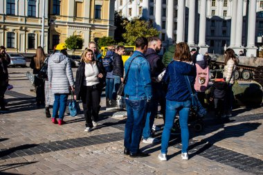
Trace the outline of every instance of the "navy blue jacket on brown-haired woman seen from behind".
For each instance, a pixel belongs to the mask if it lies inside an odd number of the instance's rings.
[[[168,84],[166,99],[176,102],[191,100],[184,75],[188,75],[190,84],[193,86],[196,74],[197,71],[194,64],[179,61],[170,62],[163,76],[163,81]]]

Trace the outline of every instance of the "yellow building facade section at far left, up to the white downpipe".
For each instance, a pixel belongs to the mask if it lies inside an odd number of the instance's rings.
[[[41,45],[43,2],[48,0],[1,0],[0,45],[10,53],[35,53]],[[48,8],[45,8],[44,50],[48,43]]]

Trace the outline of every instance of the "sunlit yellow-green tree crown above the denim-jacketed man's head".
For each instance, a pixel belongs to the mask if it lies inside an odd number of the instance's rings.
[[[126,33],[123,33],[123,38],[127,44],[134,45],[138,37],[158,37],[160,32],[153,28],[151,21],[134,18],[130,22],[124,21],[123,26]]]

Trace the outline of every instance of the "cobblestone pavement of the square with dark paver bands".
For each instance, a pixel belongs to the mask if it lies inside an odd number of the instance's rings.
[[[123,155],[125,118],[112,118],[102,98],[98,127],[84,133],[83,114],[66,116],[58,126],[35,107],[30,68],[9,68],[10,113],[0,114],[0,174],[263,174],[263,109],[235,109],[230,122],[212,115],[195,133],[190,125],[190,160],[181,160],[181,140],[172,136],[167,162],[158,160],[160,144],[140,143],[147,158]],[[75,72],[74,68],[74,72]],[[156,119],[163,127],[163,119]],[[161,131],[156,132],[161,138]]]

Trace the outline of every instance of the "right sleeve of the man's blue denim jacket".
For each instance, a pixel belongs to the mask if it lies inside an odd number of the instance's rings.
[[[147,100],[152,99],[152,80],[151,71],[149,68],[149,62],[144,62],[140,67],[140,77],[143,78],[143,84],[145,86],[145,95]]]

